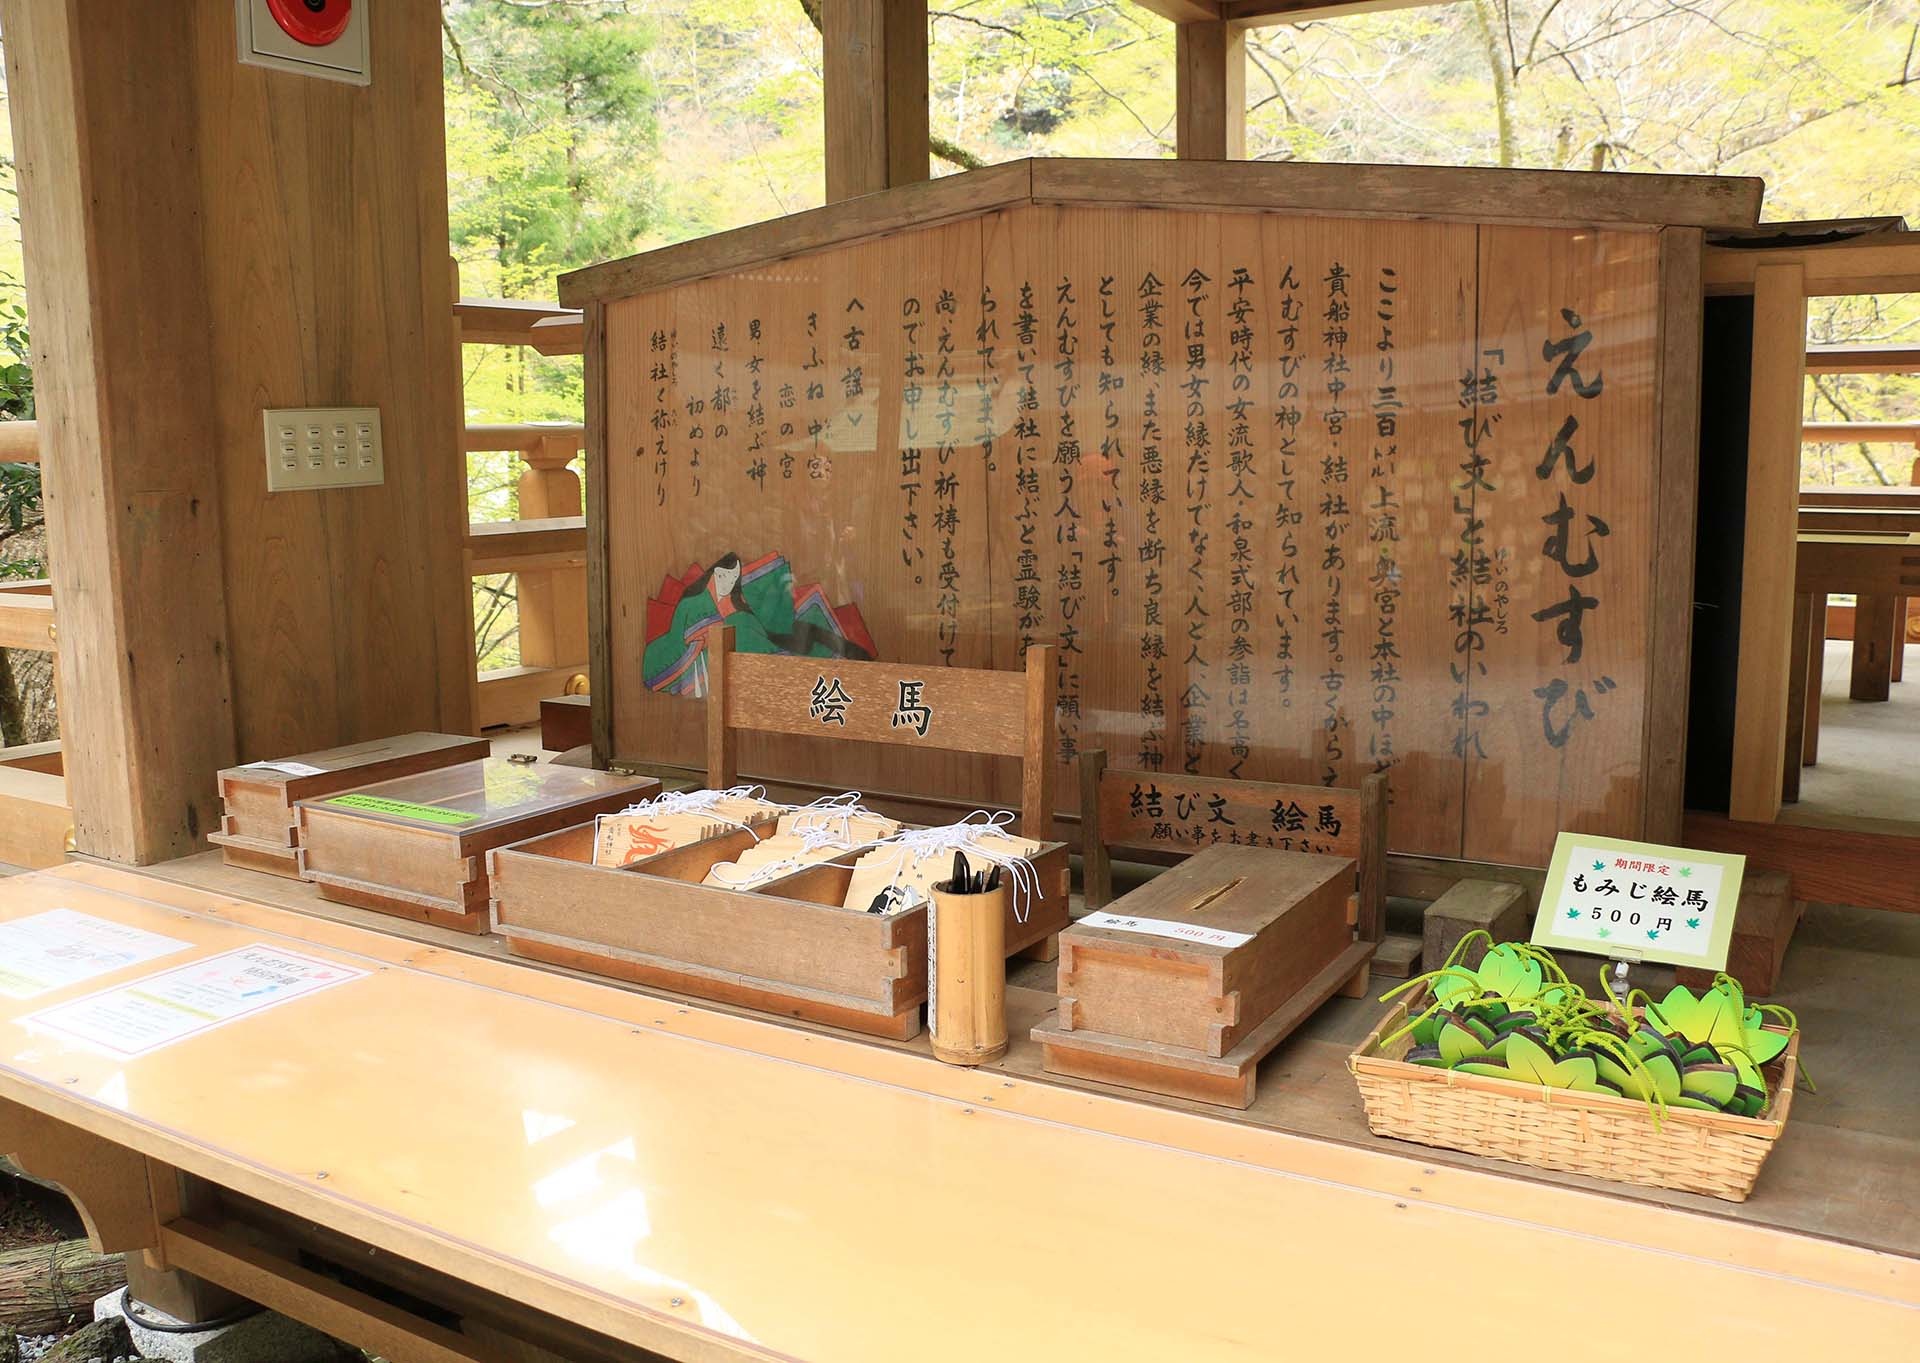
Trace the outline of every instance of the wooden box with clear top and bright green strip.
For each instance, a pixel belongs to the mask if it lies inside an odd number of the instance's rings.
[[[482,856],[657,795],[653,777],[465,762],[300,802],[300,868],[324,898],[463,933],[488,925]]]

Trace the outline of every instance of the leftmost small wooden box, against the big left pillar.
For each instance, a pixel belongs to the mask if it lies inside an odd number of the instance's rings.
[[[276,762],[230,766],[221,772],[221,831],[207,841],[228,866],[300,877],[300,820],[294,804],[392,781],[488,754],[486,739],[455,733],[401,733],[392,739],[348,743],[324,753],[301,753]]]

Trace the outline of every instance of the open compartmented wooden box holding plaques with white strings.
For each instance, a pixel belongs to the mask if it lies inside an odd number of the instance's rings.
[[[701,885],[753,845],[745,831],[632,866],[593,866],[593,827],[488,856],[493,931],[530,956],[697,998],[906,1040],[927,998],[927,910],[845,908],[858,852],[753,891]],[[1068,925],[1068,849],[1033,858],[1027,921],[1006,923],[1006,954],[1050,956]]]

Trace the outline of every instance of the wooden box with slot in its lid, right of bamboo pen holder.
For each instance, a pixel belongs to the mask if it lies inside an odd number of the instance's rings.
[[[1060,1012],[1033,1029],[1043,1064],[1248,1106],[1260,1060],[1365,966],[1352,900],[1344,856],[1196,852],[1060,935]],[[1096,925],[1110,920],[1140,931]]]

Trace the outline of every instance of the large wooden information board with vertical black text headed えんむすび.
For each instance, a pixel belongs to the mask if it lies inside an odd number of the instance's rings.
[[[1294,171],[1181,169],[1202,203]],[[732,240],[768,225],[570,276],[611,754],[699,762],[724,618],[749,653],[1014,670],[1050,643],[1062,764],[1384,772],[1396,850],[1544,864],[1561,827],[1676,827],[1697,228],[1033,188],[862,230],[889,198],[791,259]],[[743,768],[1018,795],[973,758],[804,753]]]

